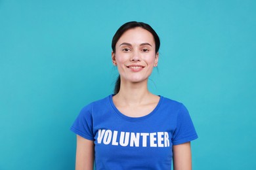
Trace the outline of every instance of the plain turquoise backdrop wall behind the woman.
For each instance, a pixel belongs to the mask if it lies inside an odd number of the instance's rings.
[[[190,110],[193,168],[255,169],[255,2],[0,0],[0,169],[74,169],[69,128],[112,93],[131,20],[161,38],[149,86]]]

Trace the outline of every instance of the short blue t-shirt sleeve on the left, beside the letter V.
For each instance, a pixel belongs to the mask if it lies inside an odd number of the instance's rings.
[[[91,105],[87,105],[80,111],[70,130],[85,139],[94,140]]]

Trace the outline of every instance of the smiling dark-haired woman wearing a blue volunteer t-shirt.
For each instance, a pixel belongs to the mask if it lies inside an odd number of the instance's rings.
[[[190,141],[198,136],[177,101],[148,91],[160,39],[142,22],[127,22],[112,40],[119,71],[115,92],[84,107],[77,134],[76,169],[192,169]]]

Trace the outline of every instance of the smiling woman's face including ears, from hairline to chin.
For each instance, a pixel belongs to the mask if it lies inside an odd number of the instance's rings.
[[[121,82],[147,80],[158,64],[153,35],[141,27],[125,31],[116,43],[116,53],[112,52],[112,60],[117,65]]]

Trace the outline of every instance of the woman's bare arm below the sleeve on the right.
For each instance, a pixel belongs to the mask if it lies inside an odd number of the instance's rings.
[[[192,156],[190,142],[173,145],[173,169],[191,170]]]

